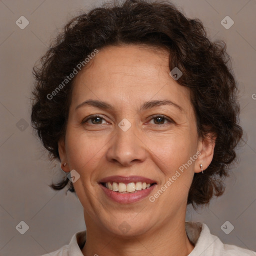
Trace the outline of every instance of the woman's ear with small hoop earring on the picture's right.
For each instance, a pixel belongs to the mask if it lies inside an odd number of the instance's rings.
[[[201,172],[205,170],[213,158],[214,146],[216,141],[216,135],[214,133],[208,133],[204,138],[200,137],[197,143],[197,151],[200,152],[195,161],[194,172]],[[202,164],[202,170],[200,168]]]

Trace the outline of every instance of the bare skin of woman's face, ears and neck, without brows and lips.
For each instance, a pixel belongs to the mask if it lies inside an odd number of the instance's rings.
[[[83,255],[188,255],[194,247],[185,232],[188,189],[194,172],[201,171],[199,164],[203,169],[210,164],[214,141],[198,137],[189,89],[169,75],[168,52],[142,45],[107,46],[76,75],[73,86],[58,149],[66,163],[62,169],[80,175],[73,185],[87,228]],[[89,105],[75,110],[87,99],[107,101],[113,110]],[[171,105],[139,111],[144,101],[156,99],[169,99],[183,111]],[[82,123],[92,114],[103,119]],[[157,114],[167,119],[151,117]],[[131,123],[127,131],[118,127],[123,118]],[[148,197],[196,151],[201,152],[198,158],[150,202]],[[120,204],[98,184],[111,175],[145,176],[157,185],[146,198]],[[130,227],[126,233],[118,227],[123,221]]]

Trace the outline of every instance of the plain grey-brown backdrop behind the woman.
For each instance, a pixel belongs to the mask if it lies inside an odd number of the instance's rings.
[[[67,20],[79,14],[79,9],[87,10],[101,2],[0,1],[1,256],[44,254],[67,244],[74,232],[85,228],[82,206],[74,194],[47,186],[58,177],[59,163],[47,160],[47,154],[32,133],[29,97],[32,66],[45,52],[50,39]],[[247,134],[247,143],[237,150],[239,163],[226,179],[224,195],[213,199],[209,208],[194,211],[188,207],[186,220],[206,223],[211,233],[224,243],[256,251],[256,100],[253,99],[256,0],[173,0],[173,3],[188,17],[200,18],[210,39],[226,42],[239,82],[240,123]],[[24,29],[15,24],[21,15],[29,21]],[[220,23],[226,15],[234,21],[229,29]],[[234,226],[229,234],[220,228],[226,220]],[[20,221],[29,226],[24,234],[15,228]]]

